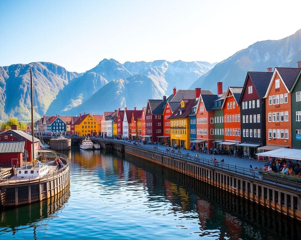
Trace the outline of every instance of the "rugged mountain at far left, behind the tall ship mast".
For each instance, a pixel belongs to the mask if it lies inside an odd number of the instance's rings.
[[[0,119],[13,116],[29,119],[30,67],[33,71],[34,105],[40,114],[46,112],[61,89],[82,75],[47,62],[0,67]]]

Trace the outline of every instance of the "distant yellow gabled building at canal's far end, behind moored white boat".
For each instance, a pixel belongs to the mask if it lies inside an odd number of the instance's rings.
[[[96,135],[98,132],[98,122],[91,114],[80,114],[74,123],[74,132],[78,136]]]

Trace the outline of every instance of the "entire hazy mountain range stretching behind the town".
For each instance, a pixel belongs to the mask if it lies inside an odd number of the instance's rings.
[[[219,81],[224,89],[242,86],[247,71],[296,67],[300,49],[301,29],[281,40],[256,42],[218,64],[180,60],[121,64],[103,59],[86,73],[68,72],[47,62],[0,67],[0,120],[12,116],[29,119],[30,67],[40,115],[100,114],[124,107],[142,108],[147,99],[169,96],[174,86],[210,89],[213,93]]]

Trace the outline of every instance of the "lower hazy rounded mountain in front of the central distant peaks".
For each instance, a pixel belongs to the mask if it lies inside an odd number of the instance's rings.
[[[161,99],[163,95],[164,90],[158,86],[156,80],[137,74],[111,81],[84,103],[66,111],[66,115],[79,115],[84,112],[102,114],[104,111],[124,107],[141,109],[147,99]]]

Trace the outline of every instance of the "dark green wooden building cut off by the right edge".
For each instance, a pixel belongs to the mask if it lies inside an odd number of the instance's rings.
[[[292,147],[301,148],[301,61],[299,73],[290,90],[292,103]]]

